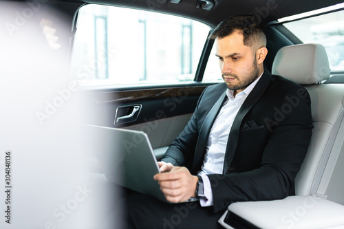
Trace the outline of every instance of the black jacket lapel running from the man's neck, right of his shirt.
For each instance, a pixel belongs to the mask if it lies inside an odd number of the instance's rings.
[[[224,169],[223,174],[228,173],[230,164],[232,163],[235,151],[237,150],[237,142],[239,140],[239,131],[243,118],[246,116],[248,111],[256,104],[256,102],[263,96],[266,88],[268,87],[271,80],[271,74],[268,72],[268,69],[264,69],[264,74],[261,76],[255,88],[252,89],[248,97],[246,98],[244,104],[240,107],[237,116],[233,122],[233,126],[230,129],[228,136],[228,142],[226,146],[226,154],[224,157]]]

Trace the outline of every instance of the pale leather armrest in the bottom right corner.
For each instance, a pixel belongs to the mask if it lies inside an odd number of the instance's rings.
[[[224,228],[344,228],[344,206],[312,196],[230,204],[219,219]]]

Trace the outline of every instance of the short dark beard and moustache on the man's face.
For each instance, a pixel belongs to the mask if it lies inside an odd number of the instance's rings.
[[[250,72],[245,72],[244,76],[246,76],[246,77],[241,77],[241,80],[239,80],[237,75],[234,75],[234,74],[224,73],[224,74],[222,74],[222,78],[224,78],[224,76],[231,76],[231,77],[236,78],[239,81],[239,83],[237,83],[237,85],[228,85],[227,84],[228,89],[230,89],[230,90],[245,89],[246,87],[248,87],[248,85],[253,83],[259,77],[259,69],[257,67],[256,58],[255,58],[255,61],[253,61]]]

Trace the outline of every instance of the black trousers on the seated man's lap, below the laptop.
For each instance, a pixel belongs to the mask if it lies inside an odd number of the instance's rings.
[[[118,201],[116,210],[107,223],[111,228],[144,229],[215,229],[222,212],[213,213],[212,207],[200,206],[200,201],[167,204],[149,195],[127,195]],[[116,222],[111,219],[120,219]]]

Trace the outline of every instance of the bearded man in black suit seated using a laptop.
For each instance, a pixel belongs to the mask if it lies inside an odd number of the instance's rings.
[[[294,178],[308,150],[308,92],[264,69],[266,36],[250,16],[222,21],[213,31],[224,83],[204,90],[189,123],[169,146],[160,173],[166,204],[127,199],[133,228],[217,228],[234,201],[294,195]],[[182,204],[190,197],[200,201]]]

